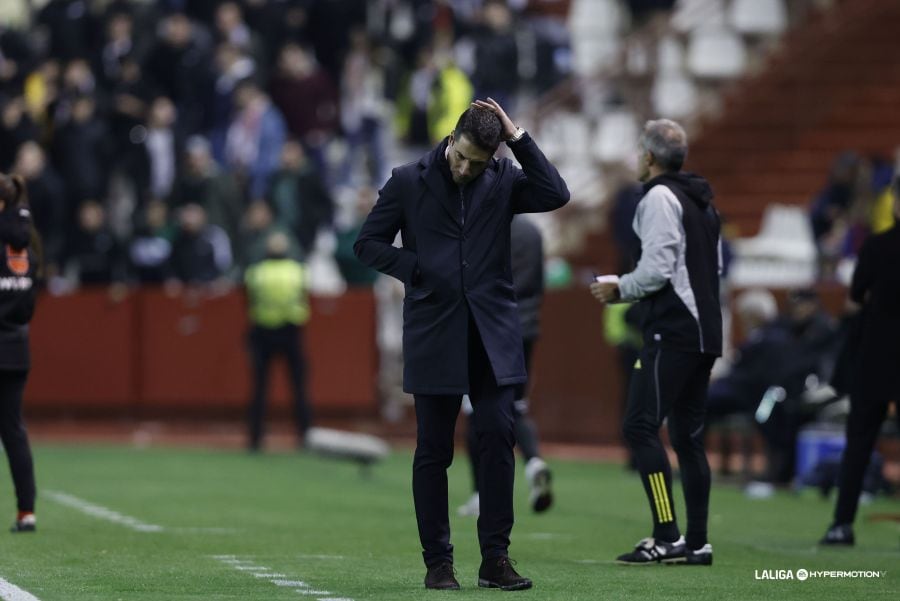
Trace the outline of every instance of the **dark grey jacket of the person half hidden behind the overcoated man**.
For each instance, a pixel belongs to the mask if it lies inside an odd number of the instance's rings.
[[[513,288],[519,305],[522,338],[540,334],[541,302],[544,300],[544,241],[541,231],[525,215],[512,221]]]

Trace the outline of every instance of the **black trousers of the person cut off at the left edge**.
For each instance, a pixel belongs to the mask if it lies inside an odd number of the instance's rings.
[[[19,511],[34,511],[36,494],[31,446],[22,420],[22,393],[27,379],[27,370],[0,370],[0,440],[9,461]]]

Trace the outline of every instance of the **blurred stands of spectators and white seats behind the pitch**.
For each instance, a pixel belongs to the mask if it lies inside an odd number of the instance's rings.
[[[443,138],[472,98],[492,96],[566,176],[573,206],[539,221],[551,256],[577,263],[591,235],[630,237],[642,121],[702,132],[730,84],[833,4],[9,0],[0,170],[28,179],[51,292],[238,281],[273,228],[298,258],[336,257],[343,281],[369,284],[349,245],[390,167]],[[892,156],[819,150],[818,170],[803,174],[822,189],[804,201],[812,227],[780,235],[806,260],[805,284],[846,281],[842,261],[892,220]],[[731,233],[752,233],[769,204],[799,204],[790,192],[755,203],[749,219],[725,205]],[[761,235],[792,216],[764,219]],[[739,285],[757,283],[754,247],[741,248]],[[314,287],[340,289],[336,273],[315,273]]]

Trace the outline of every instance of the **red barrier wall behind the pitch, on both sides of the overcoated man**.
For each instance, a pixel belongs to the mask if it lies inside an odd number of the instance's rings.
[[[842,289],[822,290],[838,309]],[[546,295],[532,365],[531,413],[547,440],[618,443],[623,390],[602,308],[585,288]],[[43,297],[32,326],[29,411],[177,414],[243,411],[250,392],[245,304],[238,292],[170,297],[141,290]],[[320,413],[377,409],[375,303],[368,290],[312,301],[306,328],[310,394]],[[277,368],[283,366],[278,365]],[[284,370],[272,406],[288,407]]]

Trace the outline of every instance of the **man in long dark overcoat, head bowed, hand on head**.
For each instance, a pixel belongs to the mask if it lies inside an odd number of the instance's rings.
[[[506,141],[519,169],[494,152]],[[507,556],[513,525],[513,400],[526,379],[512,285],[510,222],[569,200],[565,182],[493,99],[476,101],[419,161],[394,169],[354,250],[406,285],[403,388],[418,426],[413,496],[428,568],[426,588],[459,588],[447,468],[462,395],[475,409],[481,456],[479,586],[531,587]],[[397,232],[400,248],[392,246]]]

